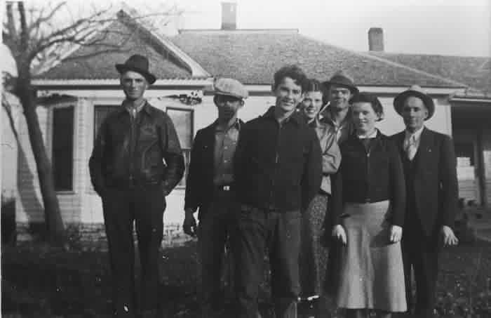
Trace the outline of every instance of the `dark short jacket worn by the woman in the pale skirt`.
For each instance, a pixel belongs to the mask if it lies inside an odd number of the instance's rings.
[[[342,161],[333,176],[333,225],[340,224],[345,202],[369,203],[389,199],[392,225],[403,226],[405,180],[398,147],[379,131],[365,149],[356,135],[342,143]]]

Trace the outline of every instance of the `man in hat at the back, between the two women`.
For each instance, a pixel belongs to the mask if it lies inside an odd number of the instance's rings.
[[[328,105],[319,115],[320,121],[334,128],[337,143],[341,144],[354,130],[349,100],[358,93],[358,88],[353,79],[342,70],[323,82],[323,85],[329,100]]]

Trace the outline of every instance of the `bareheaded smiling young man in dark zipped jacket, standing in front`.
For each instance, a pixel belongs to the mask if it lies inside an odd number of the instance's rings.
[[[297,317],[300,211],[321,186],[321,147],[295,108],[307,77],[286,66],[274,74],[276,105],[243,126],[234,164],[238,202],[232,237],[238,317],[257,317],[269,250],[276,317]]]

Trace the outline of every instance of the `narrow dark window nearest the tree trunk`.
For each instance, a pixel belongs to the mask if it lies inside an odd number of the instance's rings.
[[[73,190],[74,107],[53,109],[53,177],[56,191]]]

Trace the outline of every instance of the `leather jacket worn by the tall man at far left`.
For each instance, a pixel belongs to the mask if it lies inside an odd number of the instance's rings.
[[[168,194],[184,173],[173,122],[148,102],[135,119],[121,106],[102,122],[89,169],[94,190],[101,196],[106,188],[159,183]]]

